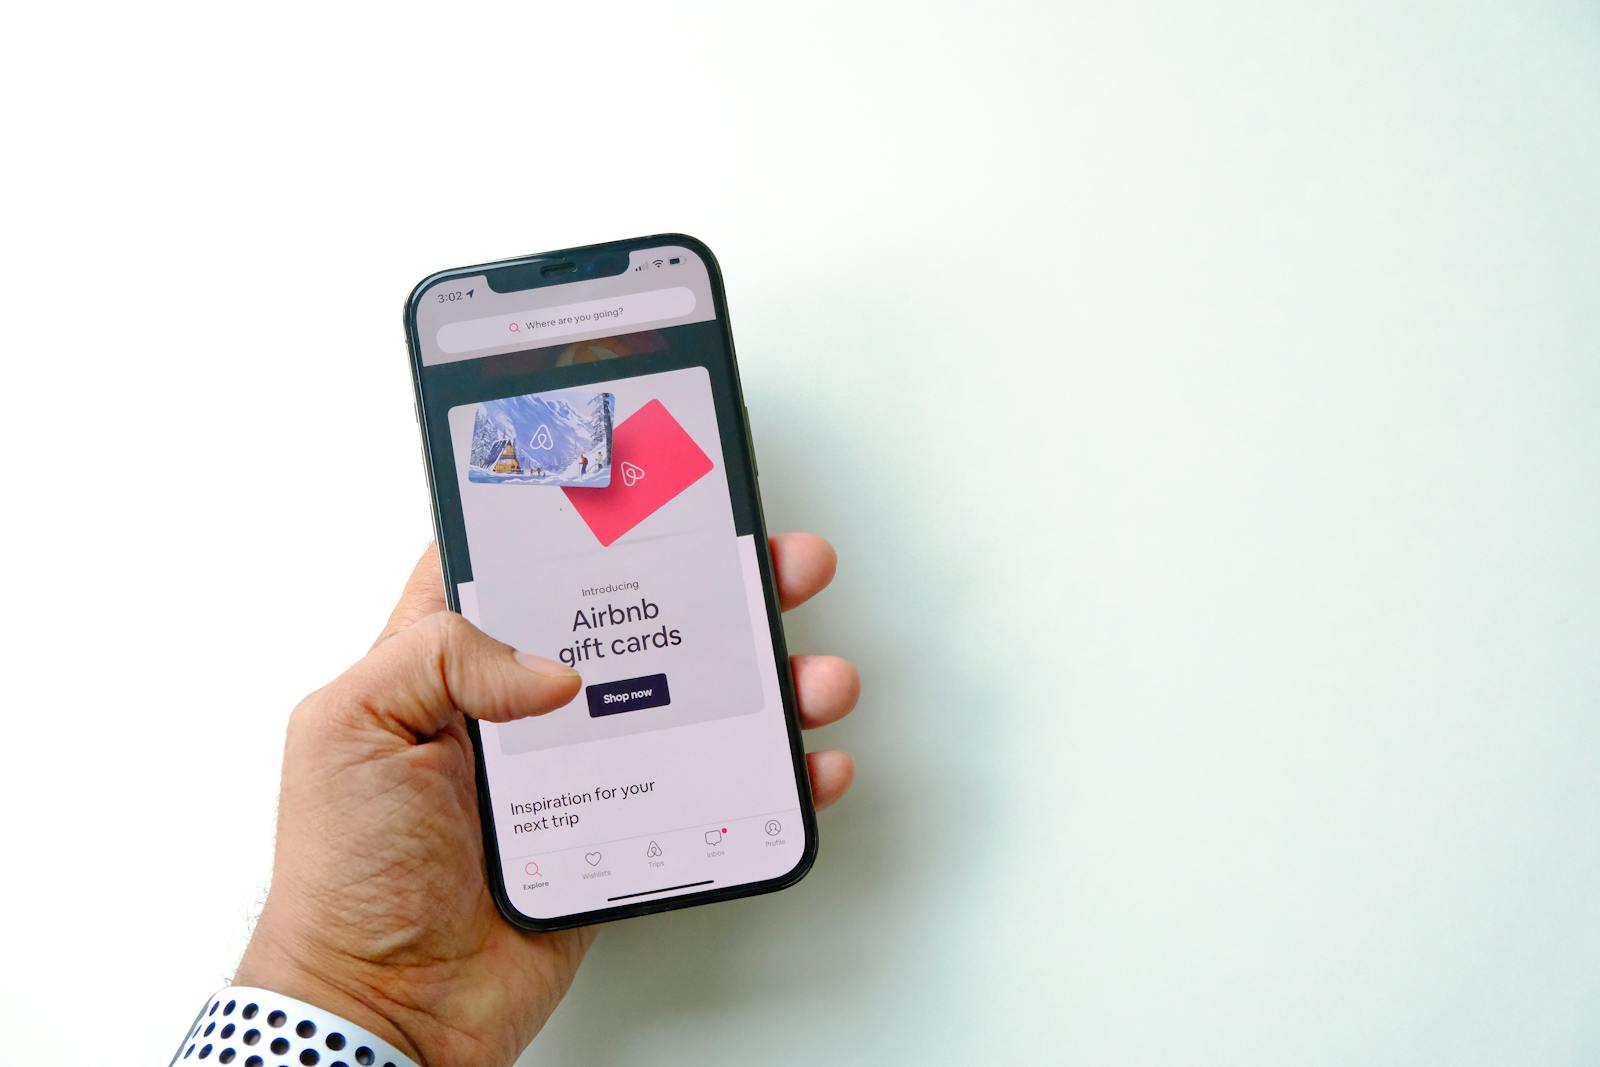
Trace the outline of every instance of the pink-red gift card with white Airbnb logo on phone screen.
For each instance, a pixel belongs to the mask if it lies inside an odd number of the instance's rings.
[[[611,485],[603,490],[565,486],[562,491],[600,544],[610,545],[706,477],[710,467],[710,458],[666,405],[651,400],[613,434]]]

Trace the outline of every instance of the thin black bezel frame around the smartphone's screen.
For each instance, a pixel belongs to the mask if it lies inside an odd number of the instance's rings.
[[[429,504],[434,514],[434,536],[440,544],[440,568],[443,569],[445,579],[445,603],[451,611],[461,611],[459,600],[456,597],[456,582],[450,573],[450,560],[443,549],[443,518],[440,512],[440,499],[437,488],[437,477],[434,470],[434,442],[429,440],[429,421],[426,400],[422,397],[422,349],[418,344],[418,306],[422,296],[432,290],[440,282],[450,282],[453,278],[472,277],[472,275],[488,275],[490,272],[514,274],[517,269],[536,267],[546,262],[562,262],[566,259],[590,261],[598,262],[605,256],[622,254],[624,261],[627,254],[643,248],[656,248],[661,245],[682,245],[698,254],[706,264],[706,274],[710,280],[712,304],[717,312],[717,323],[722,328],[723,346],[728,352],[728,370],[730,381],[733,382],[733,402],[738,413],[739,426],[738,438],[739,448],[744,450],[744,470],[747,485],[742,486],[749,493],[750,502],[754,504],[752,515],[755,520],[754,536],[758,541],[760,550],[755,553],[757,563],[762,573],[762,593],[766,600],[766,621],[768,630],[773,640],[773,659],[778,669],[778,693],[782,701],[784,721],[789,734],[789,755],[794,763],[795,773],[795,792],[800,798],[800,821],[805,830],[805,843],[802,848],[800,861],[787,872],[776,878],[766,878],[762,881],[747,881],[736,886],[720,886],[714,889],[706,889],[701,893],[686,893],[682,896],[670,896],[656,901],[642,901],[637,904],[619,904],[618,907],[597,909],[592,912],[579,912],[574,915],[565,915],[558,918],[534,918],[525,915],[510,901],[510,894],[506,889],[506,878],[502,864],[499,859],[499,841],[494,835],[494,821],[490,809],[490,793],[488,793],[488,769],[483,760],[483,737],[478,729],[478,723],[474,718],[467,718],[467,734],[472,737],[472,755],[475,763],[475,782],[478,795],[478,825],[483,833],[483,854],[485,854],[485,878],[488,880],[490,891],[494,897],[494,904],[499,907],[501,913],[515,926],[531,931],[555,931],[570,929],[574,926],[589,926],[594,923],[608,923],[619,918],[634,918],[635,915],[653,915],[658,912],[670,912],[683,907],[699,907],[702,904],[715,904],[717,901],[734,901],[747,896],[760,896],[763,893],[776,893],[778,889],[787,889],[795,885],[811,870],[816,862],[818,853],[818,833],[816,833],[816,806],[811,800],[811,777],[806,771],[805,761],[805,744],[800,736],[800,713],[794,694],[794,678],[789,672],[789,648],[784,640],[782,613],[778,605],[778,585],[773,579],[773,560],[771,549],[766,534],[766,515],[762,510],[762,491],[760,480],[755,469],[755,450],[750,443],[750,426],[749,411],[744,406],[744,386],[739,381],[739,360],[733,346],[733,325],[728,318],[728,301],[723,293],[722,285],[722,267],[717,258],[712,254],[710,248],[699,238],[690,237],[686,234],[654,234],[650,237],[634,237],[618,242],[603,242],[598,245],[584,245],[579,248],[563,248],[557,251],[536,253],[533,256],[517,256],[514,259],[498,259],[493,262],[474,264],[469,267],[453,267],[450,270],[438,270],[427,275],[411,290],[405,304],[405,333],[406,333],[406,349],[411,354],[411,389],[416,397],[416,416],[418,429],[422,435],[422,466],[427,474],[427,493]],[[533,277],[539,277],[538,272],[531,272]],[[534,285],[515,286],[512,290],[496,290],[496,291],[526,291],[534,288],[555,288],[560,285],[570,285],[573,282],[582,282],[592,277],[605,275],[586,275],[586,277],[570,277],[562,282],[544,282],[539,280]],[[454,470],[443,472],[443,477],[454,477]],[[731,478],[730,478],[731,482]],[[730,490],[733,486],[730,485]]]

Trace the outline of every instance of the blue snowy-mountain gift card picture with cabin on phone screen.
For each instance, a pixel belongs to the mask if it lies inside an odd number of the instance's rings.
[[[467,478],[506,485],[611,485],[616,397],[587,389],[485,400],[472,422]]]

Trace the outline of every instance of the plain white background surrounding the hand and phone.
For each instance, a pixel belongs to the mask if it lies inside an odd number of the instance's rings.
[[[424,274],[720,254],[816,872],[525,1062],[1600,1056],[1592,3],[26,5],[3,1057],[165,1062],[429,537]]]

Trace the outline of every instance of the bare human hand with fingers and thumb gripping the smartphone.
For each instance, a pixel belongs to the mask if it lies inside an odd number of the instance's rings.
[[[834,577],[821,537],[782,534],[771,549],[784,611]],[[854,707],[850,662],[794,656],[790,669],[803,726]],[[366,657],[290,718],[272,888],[234,984],[333,1011],[427,1067],[510,1064],[595,928],[526,933],[494,907],[464,715],[544,713],[581,685],[446,611],[429,547]],[[818,808],[850,789],[845,752],[806,765]]]

